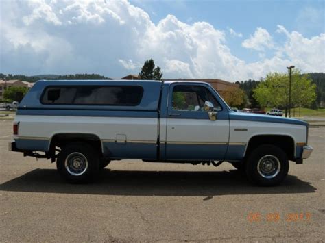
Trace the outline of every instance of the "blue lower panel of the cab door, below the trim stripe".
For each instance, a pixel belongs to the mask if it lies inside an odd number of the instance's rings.
[[[168,144],[166,159],[190,161],[223,160],[227,150],[226,144]]]

